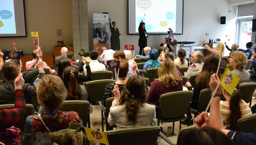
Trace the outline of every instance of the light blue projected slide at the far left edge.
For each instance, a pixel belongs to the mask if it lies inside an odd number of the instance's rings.
[[[0,34],[16,34],[13,0],[0,0]]]

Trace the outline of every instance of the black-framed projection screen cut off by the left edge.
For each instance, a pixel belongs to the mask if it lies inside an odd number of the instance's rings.
[[[26,37],[24,0],[0,0],[0,37]]]

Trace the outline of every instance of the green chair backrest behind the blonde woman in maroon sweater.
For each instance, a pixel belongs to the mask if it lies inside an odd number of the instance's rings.
[[[161,118],[178,118],[188,112],[193,91],[177,91],[160,96]]]

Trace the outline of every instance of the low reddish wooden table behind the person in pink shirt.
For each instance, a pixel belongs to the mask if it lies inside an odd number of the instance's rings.
[[[23,63],[22,71],[26,70],[26,62],[32,61],[32,55],[23,55],[21,56],[21,62]],[[43,54],[43,62],[45,62],[48,66],[54,66],[54,58],[53,54]]]

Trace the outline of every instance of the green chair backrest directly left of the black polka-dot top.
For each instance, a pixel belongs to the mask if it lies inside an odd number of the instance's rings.
[[[90,81],[85,84],[90,92],[90,98],[92,105],[99,105],[99,101],[103,101],[103,95],[106,89],[106,86],[109,83],[116,82],[113,79],[102,79],[102,80],[95,80]]]

